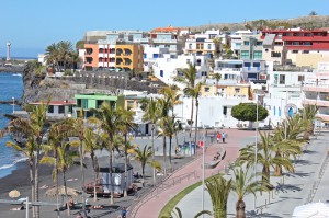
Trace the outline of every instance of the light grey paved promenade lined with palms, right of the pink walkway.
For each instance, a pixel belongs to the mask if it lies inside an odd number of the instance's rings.
[[[313,138],[304,154],[298,157],[295,163],[295,173],[285,174],[284,177],[271,176],[271,183],[276,187],[273,192],[257,194],[256,210],[252,215],[254,197],[245,197],[247,217],[292,217],[294,208],[308,202],[329,202],[329,133],[321,133]],[[253,171],[253,170],[252,170]],[[260,172],[261,169],[258,169]],[[251,172],[252,173],[252,172]],[[228,175],[229,177],[229,175]],[[188,194],[177,206],[182,210],[183,217],[194,217],[202,210],[202,188],[198,187]],[[231,193],[228,198],[228,216],[235,217],[235,204],[237,196]],[[212,202],[205,192],[205,209],[212,211]],[[205,218],[209,216],[205,215]]]

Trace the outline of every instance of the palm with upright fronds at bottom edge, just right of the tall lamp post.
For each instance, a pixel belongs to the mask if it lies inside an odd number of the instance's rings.
[[[227,198],[231,190],[231,180],[225,180],[222,174],[205,181],[206,190],[211,195],[214,218],[223,218],[227,215]]]

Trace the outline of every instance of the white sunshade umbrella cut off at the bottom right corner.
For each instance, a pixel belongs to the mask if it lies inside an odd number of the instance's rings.
[[[295,207],[294,218],[321,218],[329,215],[329,205],[325,203],[311,203]]]

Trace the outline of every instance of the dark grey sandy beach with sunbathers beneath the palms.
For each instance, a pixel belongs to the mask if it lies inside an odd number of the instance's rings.
[[[157,160],[160,162],[162,161],[162,157],[156,157]],[[183,158],[183,159],[174,159],[173,168],[178,169],[182,164],[185,164],[186,162],[191,161],[192,158]],[[116,162],[124,162],[123,158],[116,159]],[[100,167],[109,167],[109,157],[104,156],[99,158]],[[91,161],[89,158],[86,158],[87,169],[86,169],[86,182],[91,181],[93,179],[93,173],[90,170],[91,169]],[[141,173],[141,167],[140,163],[132,160],[131,164],[134,168],[135,172]],[[55,185],[52,180],[52,168],[47,165],[41,167],[41,176],[39,176],[39,187],[45,187],[39,190],[39,200],[43,202],[56,202],[56,197],[48,197],[45,196],[45,192]],[[151,168],[149,165],[146,167],[146,186],[141,188],[141,184],[137,185],[140,187],[138,191],[138,195],[143,195],[147,193],[152,187],[152,177],[151,177]],[[59,177],[59,185],[63,184],[63,174],[60,173],[58,175]],[[69,169],[67,172],[67,186],[73,187],[77,190],[81,190],[81,172],[80,168],[78,165],[73,165]],[[158,176],[158,181],[161,180],[161,176]],[[21,193],[21,197],[29,196],[31,197],[31,186],[30,186],[30,176],[29,176],[29,167],[27,162],[20,162],[18,164],[18,169],[13,171],[11,175],[8,175],[3,179],[0,179],[0,198],[1,199],[11,199],[8,194],[11,190],[18,190]],[[93,202],[93,198],[89,195],[89,203],[91,205],[105,205],[110,206],[110,199],[109,198],[99,198],[98,202]],[[75,198],[77,202],[81,202],[81,196],[78,196]],[[89,213],[90,217],[117,217],[120,214],[120,208],[125,206],[128,207],[136,200],[136,196],[127,196],[127,197],[121,197],[114,199],[114,205],[111,206],[110,210],[91,210]],[[22,218],[25,217],[25,210],[21,211],[12,211],[11,208],[18,207],[16,205],[9,205],[9,204],[0,204],[0,217],[11,217],[11,218]],[[56,213],[54,211],[55,206],[44,206],[41,207],[41,217],[43,218],[53,218],[56,217]],[[71,216],[69,217],[76,217],[78,210],[72,210]],[[32,213],[31,213],[32,217]],[[68,217],[67,211],[61,211],[60,217]]]

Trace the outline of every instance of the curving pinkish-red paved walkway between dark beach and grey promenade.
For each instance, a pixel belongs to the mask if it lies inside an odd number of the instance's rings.
[[[254,131],[237,130],[237,129],[224,129],[228,135],[226,144],[208,146],[205,152],[206,162],[211,161],[217,151],[220,151],[220,147],[224,146],[226,150],[225,160],[223,160],[216,168],[207,169],[205,176],[208,177],[213,174],[222,171],[225,165],[232,162],[238,157],[239,148],[246,144],[250,144],[254,140]],[[132,211],[134,218],[155,218],[158,217],[163,206],[179,192],[202,180],[202,156],[186,164],[182,169],[174,172],[164,183],[164,188],[158,190],[157,194],[150,194],[150,197],[146,197],[140,203],[140,207],[135,207]],[[190,176],[189,176],[190,175]],[[201,195],[200,195],[201,203]],[[137,209],[137,211],[136,211]],[[196,208],[197,211],[201,207]],[[136,215],[134,215],[136,211]],[[195,213],[196,214],[196,213]],[[194,214],[194,215],[195,215]],[[190,217],[185,216],[184,217]]]

